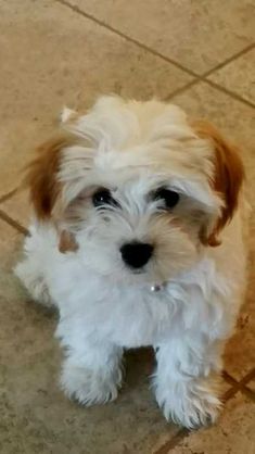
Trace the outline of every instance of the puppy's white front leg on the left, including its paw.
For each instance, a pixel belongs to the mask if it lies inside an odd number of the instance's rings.
[[[109,341],[82,341],[67,345],[61,386],[79,403],[90,406],[117,398],[122,383],[122,349]]]

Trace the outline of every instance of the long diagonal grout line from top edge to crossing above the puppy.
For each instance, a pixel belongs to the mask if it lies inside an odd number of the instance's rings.
[[[168,62],[170,64],[173,64],[174,66],[178,67],[179,70],[183,71],[184,73],[189,74],[192,77],[200,77],[199,74],[194,73],[191,70],[188,70],[186,66],[183,66],[181,63],[176,62],[175,60],[169,59],[168,56],[165,56],[163,53],[157,52],[156,50],[148,47],[146,45],[143,45],[142,42],[140,42],[139,40],[126,35],[123,31],[119,31],[117,28],[112,27],[111,25],[106,24],[105,22],[94,17],[92,14],[86,13],[85,11],[80,10],[80,8],[71,4],[67,0],[55,0],[58,3],[69,8],[71,10],[73,10],[75,13],[78,13],[80,15],[82,15],[86,18],[89,18],[90,21],[93,21],[95,24],[100,25],[101,27],[106,28],[110,31],[113,31],[115,35],[118,35],[122,38],[125,38],[127,41],[132,42],[133,45],[137,45],[139,48],[152,53],[155,56],[158,56],[160,59],[164,60],[165,62]]]

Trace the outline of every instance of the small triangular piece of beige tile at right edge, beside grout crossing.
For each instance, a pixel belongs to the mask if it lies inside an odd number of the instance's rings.
[[[255,49],[224,66],[209,79],[231,90],[255,105]]]

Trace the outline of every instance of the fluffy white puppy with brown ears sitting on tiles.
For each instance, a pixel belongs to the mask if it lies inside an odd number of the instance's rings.
[[[64,392],[85,405],[116,399],[124,349],[153,345],[165,417],[215,421],[245,289],[238,152],[156,100],[103,97],[62,121],[28,169],[35,219],[16,274],[59,308]]]

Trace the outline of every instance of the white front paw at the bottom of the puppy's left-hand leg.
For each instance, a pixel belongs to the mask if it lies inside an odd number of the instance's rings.
[[[80,404],[91,406],[114,401],[120,387],[120,370],[91,370],[82,366],[64,364],[61,387],[65,394]]]

